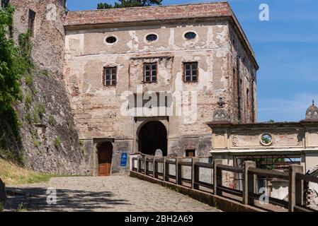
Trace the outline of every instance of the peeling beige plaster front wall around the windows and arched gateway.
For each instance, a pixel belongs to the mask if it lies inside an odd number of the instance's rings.
[[[198,37],[185,40],[183,35],[187,31],[194,31]],[[159,38],[148,43],[144,39],[151,33]],[[109,35],[117,37],[118,42],[107,44],[105,39]],[[138,126],[133,117],[120,114],[120,95],[128,90],[136,93],[139,85],[143,85],[143,92],[195,91],[196,120],[188,123],[188,119],[175,114],[169,122],[163,120],[169,131],[169,154],[183,156],[187,148],[195,148],[198,155],[208,155],[211,136],[205,122],[212,119],[219,97],[229,95],[228,39],[225,22],[67,31],[65,81],[80,137],[124,140],[134,147],[129,151],[136,152]],[[191,61],[199,64],[198,83],[183,83],[183,62]],[[149,62],[158,63],[157,83],[142,83],[143,64]],[[103,86],[104,66],[117,66],[115,87]]]

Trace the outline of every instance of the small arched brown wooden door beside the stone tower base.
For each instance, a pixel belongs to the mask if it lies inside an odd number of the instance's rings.
[[[113,158],[113,145],[104,142],[97,146],[98,150],[98,176],[110,176],[111,160]]]

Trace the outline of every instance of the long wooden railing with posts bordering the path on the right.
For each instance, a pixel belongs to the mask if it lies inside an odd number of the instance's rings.
[[[210,192],[216,196],[236,196],[239,197],[239,200],[244,205],[249,206],[256,206],[256,201],[260,201],[262,196],[262,194],[257,192],[259,190],[256,185],[257,177],[283,179],[289,182],[288,201],[267,197],[268,203],[288,208],[290,212],[314,211],[305,208],[303,184],[304,181],[318,183],[318,178],[302,174],[303,168],[301,165],[290,165],[289,172],[278,172],[276,170],[257,169],[256,163],[252,161],[244,162],[244,167],[232,167],[222,165],[222,160],[206,163],[200,162],[195,157],[191,158],[191,162],[184,162],[184,159],[184,157],[132,157],[132,171],[144,174],[147,177],[160,179],[164,182],[174,183],[178,186]],[[135,162],[138,162],[137,166]],[[152,162],[152,170],[149,169],[150,162]],[[161,164],[161,172],[159,172],[159,164]],[[175,174],[169,173],[171,165],[175,166]],[[191,167],[191,179],[183,177],[182,167]],[[211,169],[211,174],[208,176],[205,175],[205,177],[210,177],[211,183],[200,181],[200,169]],[[242,174],[242,191],[225,186],[223,182],[225,172]]]

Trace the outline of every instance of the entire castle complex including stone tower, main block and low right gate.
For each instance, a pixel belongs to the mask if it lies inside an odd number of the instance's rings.
[[[28,167],[106,176],[127,172],[123,157],[135,153],[316,167],[317,107],[300,122],[257,123],[259,66],[226,2],[74,12],[64,0],[8,3],[16,42],[31,35],[33,102],[46,106],[37,131],[23,124]]]

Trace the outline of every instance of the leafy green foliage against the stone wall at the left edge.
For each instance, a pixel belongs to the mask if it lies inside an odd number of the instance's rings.
[[[0,119],[1,124],[8,124],[17,143],[21,143],[20,121],[14,106],[23,100],[21,78],[31,73],[30,34],[18,37],[19,44],[13,41],[14,8],[8,4],[0,9]],[[1,125],[3,126],[3,125]],[[6,149],[5,136],[8,131],[0,131],[0,149]]]

